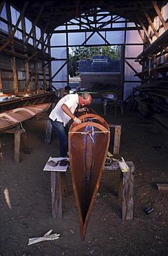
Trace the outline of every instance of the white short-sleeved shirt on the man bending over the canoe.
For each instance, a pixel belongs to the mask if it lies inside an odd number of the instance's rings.
[[[62,105],[65,104],[70,109],[72,113],[74,113],[76,107],[78,107],[78,94],[67,94],[59,102],[56,104],[56,107],[52,109],[49,118],[53,121],[57,120],[59,122],[63,122],[63,126],[67,125],[67,123],[71,120],[70,116],[61,109]]]

